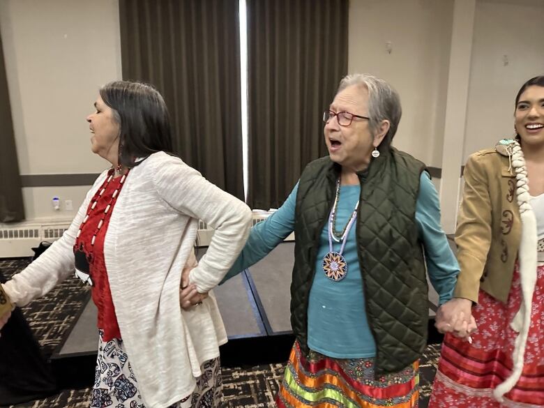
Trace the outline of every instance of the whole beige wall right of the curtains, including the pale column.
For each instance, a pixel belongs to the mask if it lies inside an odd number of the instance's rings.
[[[454,5],[466,11],[455,22]],[[398,89],[404,114],[394,144],[449,175],[440,193],[451,233],[460,166],[469,153],[512,135],[517,89],[544,73],[544,1],[351,0],[349,11],[349,73],[373,73]],[[461,30],[456,38],[453,24]],[[471,44],[457,43],[452,54],[452,40]],[[458,130],[444,149],[446,117],[462,123],[453,123]]]

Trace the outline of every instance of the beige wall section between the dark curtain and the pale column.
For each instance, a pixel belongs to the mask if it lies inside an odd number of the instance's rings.
[[[453,0],[351,0],[349,6],[349,73],[372,73],[397,89],[403,114],[394,145],[436,167],[452,19]]]

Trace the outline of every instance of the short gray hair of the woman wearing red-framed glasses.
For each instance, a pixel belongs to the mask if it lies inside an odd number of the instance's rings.
[[[378,132],[381,121],[389,121],[389,130],[380,144],[380,150],[382,146],[388,149],[397,133],[400,116],[402,116],[397,91],[381,78],[370,74],[353,74],[342,78],[337,93],[352,85],[362,85],[368,90],[368,117],[370,118],[368,126],[373,136]]]

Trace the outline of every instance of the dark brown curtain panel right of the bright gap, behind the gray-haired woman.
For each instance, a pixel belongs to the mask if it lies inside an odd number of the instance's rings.
[[[347,73],[348,0],[248,0],[249,191],[278,207],[326,156],[322,112]]]

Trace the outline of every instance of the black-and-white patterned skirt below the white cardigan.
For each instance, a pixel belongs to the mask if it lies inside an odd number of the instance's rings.
[[[219,358],[206,361],[202,375],[191,395],[169,408],[219,408],[222,402],[222,382]],[[103,341],[100,331],[96,376],[91,396],[91,408],[146,408],[138,391],[138,381],[130,367],[123,340]]]

